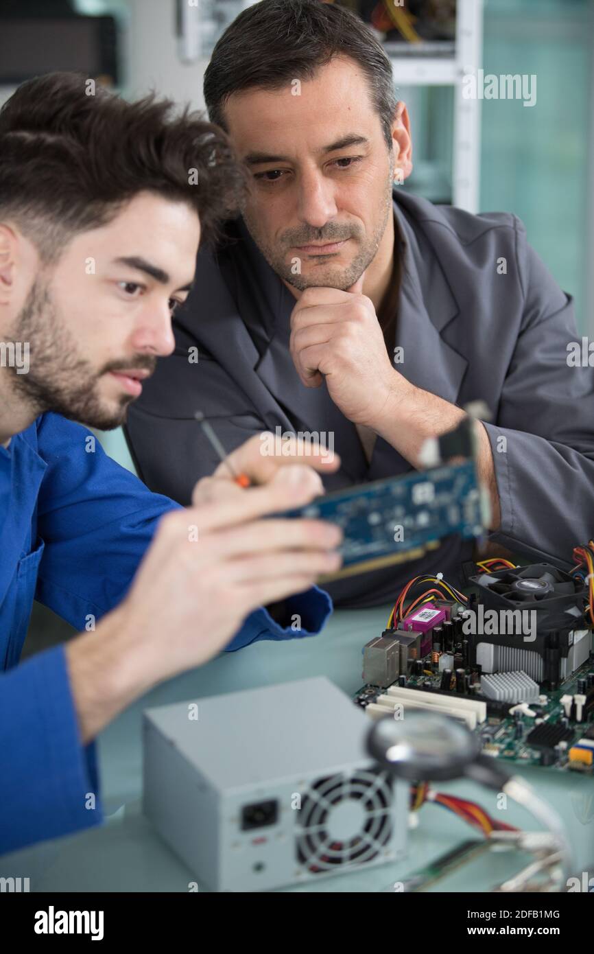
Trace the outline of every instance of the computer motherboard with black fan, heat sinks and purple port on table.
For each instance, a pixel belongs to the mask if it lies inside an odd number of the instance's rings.
[[[363,648],[365,684],[355,702],[372,718],[419,709],[454,716],[486,755],[594,775],[583,582],[547,564],[477,570],[475,591],[458,593],[460,601],[435,598],[436,578],[433,596],[393,613],[393,625]]]

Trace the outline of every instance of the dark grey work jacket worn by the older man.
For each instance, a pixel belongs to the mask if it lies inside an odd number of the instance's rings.
[[[518,218],[473,216],[396,190],[402,280],[398,370],[413,384],[463,405],[491,410],[502,505],[492,539],[570,564],[572,548],[594,534],[594,369],[571,367],[578,341],[572,303],[526,242]],[[188,503],[215,454],[195,423],[202,410],[231,450],[262,429],[333,431],[342,459],[328,489],[410,469],[385,441],[367,465],[358,434],[325,387],[309,389],[289,354],[295,299],[239,220],[232,239],[200,252],[195,289],[175,319],[176,349],[158,363],[130,409],[128,437],[152,489]],[[189,361],[197,346],[198,363]],[[442,570],[462,582],[471,545],[455,539],[402,567],[328,587],[342,606],[391,599],[410,577]]]

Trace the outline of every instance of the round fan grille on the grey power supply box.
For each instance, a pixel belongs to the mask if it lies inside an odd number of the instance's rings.
[[[297,860],[311,874],[374,861],[392,837],[392,779],[360,769],[319,778],[297,812]]]

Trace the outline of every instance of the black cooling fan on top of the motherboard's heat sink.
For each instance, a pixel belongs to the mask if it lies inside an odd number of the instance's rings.
[[[587,590],[580,580],[557,570],[548,563],[533,563],[515,570],[497,570],[471,576],[470,583],[479,587],[486,607],[496,610],[536,610],[551,620],[568,608],[583,612]],[[575,613],[571,613],[574,616]]]

